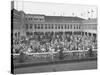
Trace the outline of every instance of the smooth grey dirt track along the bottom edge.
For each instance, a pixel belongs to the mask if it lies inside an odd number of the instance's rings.
[[[14,73],[38,73],[38,72],[54,72],[54,71],[69,71],[69,70],[86,70],[86,69],[96,69],[97,61],[83,61],[83,62],[73,62],[73,63],[61,63],[61,64],[49,64],[42,66],[31,66],[16,68]]]

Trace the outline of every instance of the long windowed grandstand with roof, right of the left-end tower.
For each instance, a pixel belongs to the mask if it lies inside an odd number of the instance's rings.
[[[97,19],[83,19],[70,16],[46,16],[25,14],[24,28],[26,32],[67,32],[78,34],[96,34]]]

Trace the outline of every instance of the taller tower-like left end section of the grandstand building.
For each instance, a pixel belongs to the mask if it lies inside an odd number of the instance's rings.
[[[23,35],[24,12],[12,9],[12,34],[13,37]]]

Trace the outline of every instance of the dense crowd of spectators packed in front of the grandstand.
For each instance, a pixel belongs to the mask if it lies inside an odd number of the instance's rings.
[[[64,33],[36,33],[34,35],[19,36],[13,38],[14,53],[43,53],[57,52],[59,50],[88,50],[97,49],[97,37],[95,35],[64,34]]]

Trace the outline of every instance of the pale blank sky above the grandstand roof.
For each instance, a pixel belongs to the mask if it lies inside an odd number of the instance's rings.
[[[77,16],[85,19],[97,17],[97,7],[88,5],[15,1],[14,8],[19,11],[23,10],[27,14]]]

